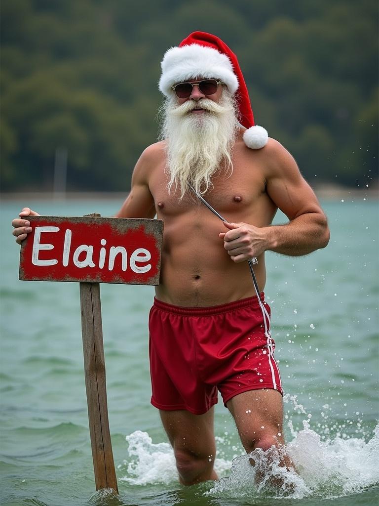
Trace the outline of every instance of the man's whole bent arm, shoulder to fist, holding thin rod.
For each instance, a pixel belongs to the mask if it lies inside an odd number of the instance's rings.
[[[290,221],[262,228],[246,223],[225,224],[229,231],[220,236],[236,263],[258,257],[267,250],[290,256],[307,255],[329,241],[326,217],[294,158],[273,139],[264,149],[267,194]]]

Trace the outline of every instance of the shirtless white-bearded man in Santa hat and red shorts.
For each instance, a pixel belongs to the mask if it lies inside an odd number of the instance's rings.
[[[151,402],[160,410],[180,482],[191,485],[217,478],[217,391],[248,453],[284,445],[264,254],[307,255],[326,246],[329,230],[291,154],[254,126],[238,60],[222,40],[194,32],[169,49],[159,88],[165,96],[161,141],[141,154],[116,216],[164,220],[161,279],[149,320]],[[277,208],[287,224],[271,224]],[[13,220],[18,243],[31,231],[27,217],[36,214],[25,207]],[[247,262],[254,257],[260,300]],[[283,465],[291,466],[286,456]]]

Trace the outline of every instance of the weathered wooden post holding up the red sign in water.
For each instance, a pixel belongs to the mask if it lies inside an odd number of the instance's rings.
[[[100,216],[92,214],[90,216]],[[118,494],[108,420],[100,283],[80,282],[85,389],[96,490]]]

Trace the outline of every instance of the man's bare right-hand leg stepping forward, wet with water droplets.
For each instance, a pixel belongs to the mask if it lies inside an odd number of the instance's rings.
[[[282,427],[283,400],[278,391],[250,390],[230,399],[227,407],[233,415],[247,453],[256,448],[266,451],[272,445],[280,449],[285,444]],[[254,465],[252,460],[250,462]],[[280,465],[295,469],[288,455],[283,456]],[[260,479],[259,476],[257,478]]]

